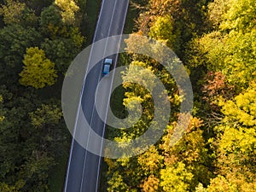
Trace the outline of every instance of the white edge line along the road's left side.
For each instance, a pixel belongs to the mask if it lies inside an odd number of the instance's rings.
[[[105,3],[105,0],[102,0],[102,7],[101,7],[100,14],[99,14],[98,18],[101,18],[101,16],[102,16],[102,8],[103,8],[104,3]],[[97,31],[97,28],[98,28],[98,24],[96,24],[96,31]],[[95,38],[96,38],[96,33],[95,33],[93,41],[92,41],[93,43],[95,42]],[[93,44],[92,44],[91,49],[92,48],[93,48]],[[91,52],[90,52],[90,56],[91,56]],[[89,56],[89,61],[90,61],[90,56]],[[88,68],[89,68],[89,65],[86,68],[84,79],[86,78],[86,74],[88,73]],[[82,86],[82,89],[84,89],[84,84]],[[83,91],[82,91],[82,93],[83,93]],[[81,93],[80,98],[79,98],[79,108],[78,108],[78,111],[77,111],[76,121],[75,121],[75,125],[74,125],[74,130],[73,130],[73,139],[72,139],[72,144],[71,144],[71,149],[70,149],[70,154],[69,154],[69,159],[68,159],[67,175],[66,175],[66,180],[65,180],[64,192],[67,192],[67,181],[68,181],[69,172],[70,172],[70,164],[71,164],[72,154],[73,154],[73,143],[74,143],[75,133],[76,133],[76,130],[77,130],[77,124],[78,124],[78,118],[79,118],[79,110],[80,110],[80,107],[81,107],[81,100],[82,100],[82,93]]]

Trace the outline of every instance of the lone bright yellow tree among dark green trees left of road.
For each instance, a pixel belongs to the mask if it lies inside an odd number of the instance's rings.
[[[23,71],[20,73],[20,84],[36,89],[55,83],[57,77],[55,64],[45,57],[44,50],[26,49]]]

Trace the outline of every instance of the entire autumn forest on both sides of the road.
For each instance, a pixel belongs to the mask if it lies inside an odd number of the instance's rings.
[[[91,43],[100,3],[0,0],[1,192],[62,191],[71,143],[62,81]],[[143,75],[137,67],[144,67],[162,81],[172,118],[143,154],[104,158],[101,191],[256,191],[256,2],[132,0],[125,32],[154,38],[177,54],[193,86],[193,118],[170,147],[183,115],[175,80],[148,56],[120,55],[119,65],[129,69],[124,80]],[[123,84],[113,97],[119,98],[111,101],[118,117],[125,117],[134,99],[142,103],[143,116],[131,129],[108,129],[106,137],[122,142],[141,136],[154,116],[150,93]]]

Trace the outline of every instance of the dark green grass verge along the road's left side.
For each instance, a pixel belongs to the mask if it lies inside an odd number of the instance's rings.
[[[101,0],[87,0],[85,13],[87,14],[84,18],[84,23],[82,24],[82,32],[86,37],[86,42],[84,47],[88,46],[92,43],[95,28],[97,15],[101,8]],[[58,88],[56,90],[61,90],[62,83],[57,84]],[[48,95],[48,94],[44,94]],[[60,96],[60,95],[59,95]],[[68,132],[69,134],[69,132]],[[51,175],[49,176],[49,191],[52,192],[61,192],[63,191],[64,181],[67,172],[67,161],[69,157],[69,149],[67,148],[67,152],[63,153],[63,156],[60,160],[56,162],[56,166],[54,167]]]

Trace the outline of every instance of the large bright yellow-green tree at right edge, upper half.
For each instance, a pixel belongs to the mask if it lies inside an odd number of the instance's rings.
[[[202,52],[207,56],[207,68],[222,72],[230,84],[236,88],[248,85],[255,79],[255,42],[256,30],[251,32],[230,32],[222,35],[212,32],[201,38]]]

